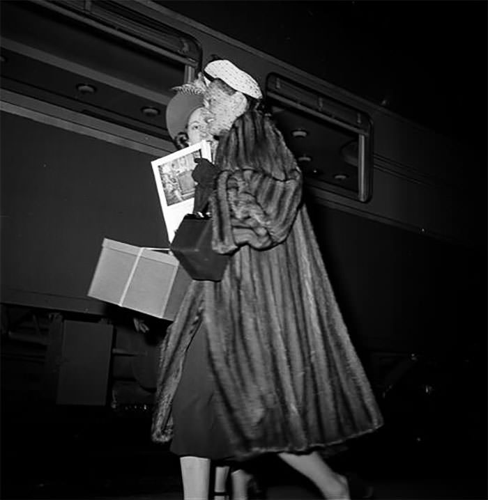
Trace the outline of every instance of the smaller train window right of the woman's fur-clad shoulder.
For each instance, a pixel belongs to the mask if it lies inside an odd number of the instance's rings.
[[[372,121],[363,111],[269,75],[266,100],[305,182],[367,202],[372,196]]]

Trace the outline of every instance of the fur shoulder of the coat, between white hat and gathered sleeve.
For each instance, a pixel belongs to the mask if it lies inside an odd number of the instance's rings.
[[[254,170],[284,180],[296,161],[269,115],[249,109],[220,137],[215,163],[222,170]]]

